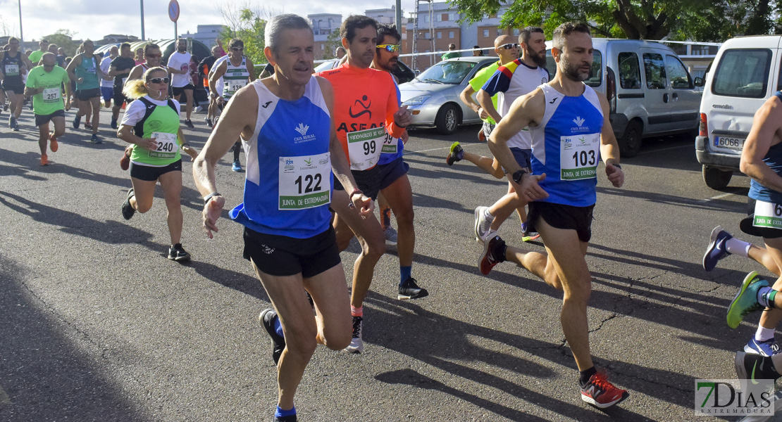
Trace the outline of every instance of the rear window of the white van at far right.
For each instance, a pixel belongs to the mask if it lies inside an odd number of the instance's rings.
[[[771,50],[767,48],[725,51],[714,72],[712,92],[728,97],[763,98],[770,68]]]

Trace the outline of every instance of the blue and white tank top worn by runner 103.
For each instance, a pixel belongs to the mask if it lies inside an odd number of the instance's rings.
[[[588,207],[597,200],[597,163],[603,110],[587,85],[578,97],[568,97],[540,85],[546,112],[540,125],[529,127],[533,138],[533,174],[546,173],[540,186],[549,194],[541,202]]]

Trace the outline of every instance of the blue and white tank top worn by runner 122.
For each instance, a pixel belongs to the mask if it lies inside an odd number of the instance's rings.
[[[328,230],[332,175],[331,116],[315,76],[296,101],[278,98],[260,80],[258,119],[249,140],[244,202],[231,218],[256,232],[306,239]]]

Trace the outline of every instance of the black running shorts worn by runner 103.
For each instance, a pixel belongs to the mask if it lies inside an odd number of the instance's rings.
[[[573,207],[572,205],[533,201],[529,203],[527,225],[529,226],[529,231],[537,232],[535,222],[540,217],[555,229],[576,230],[579,240],[589,242],[592,238],[593,210],[594,205]],[[545,239],[543,239],[543,242],[545,242]]]

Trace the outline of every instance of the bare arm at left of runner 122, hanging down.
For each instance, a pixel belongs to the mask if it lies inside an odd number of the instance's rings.
[[[193,161],[193,180],[202,197],[217,192],[214,179],[217,161],[228,153],[240,136],[246,139],[253,135],[257,117],[258,96],[255,90],[239,90],[223,111],[209,140],[206,140],[206,145]],[[204,206],[203,226],[210,239],[212,232],[217,232],[217,218],[220,218],[224,205],[225,199],[216,196]]]

